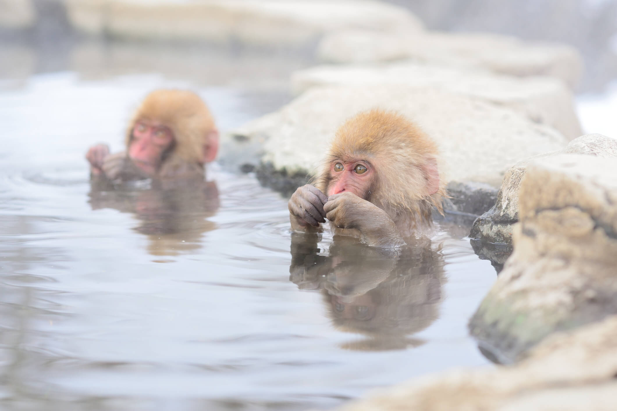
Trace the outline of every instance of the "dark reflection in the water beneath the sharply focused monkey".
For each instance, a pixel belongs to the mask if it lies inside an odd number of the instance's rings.
[[[322,290],[334,327],[368,337],[342,348],[423,343],[408,336],[437,319],[444,282],[444,261],[430,240],[394,252],[336,238],[328,256],[318,254],[318,240],[316,234],[292,234],[290,280],[301,290]]]

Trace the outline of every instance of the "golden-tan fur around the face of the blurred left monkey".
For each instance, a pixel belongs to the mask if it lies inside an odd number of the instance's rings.
[[[126,149],[138,120],[159,121],[173,132],[175,148],[170,160],[178,163],[203,163],[204,140],[216,129],[204,101],[194,92],[160,89],[146,96],[133,115],[126,131]]]

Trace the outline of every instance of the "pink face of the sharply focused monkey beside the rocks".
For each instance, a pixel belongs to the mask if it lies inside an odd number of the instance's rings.
[[[352,192],[366,200],[375,177],[373,166],[364,160],[333,161],[330,165],[328,196],[342,192]]]

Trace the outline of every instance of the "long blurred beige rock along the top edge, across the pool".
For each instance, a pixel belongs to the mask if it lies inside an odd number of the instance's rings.
[[[373,0],[67,0],[81,31],[126,39],[310,46],[333,30],[419,31],[402,7]]]

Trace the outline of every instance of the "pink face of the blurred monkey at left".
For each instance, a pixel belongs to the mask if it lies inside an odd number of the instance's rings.
[[[133,139],[128,155],[135,164],[147,173],[154,173],[160,165],[163,153],[173,144],[173,132],[156,121],[139,120],[133,127]]]

